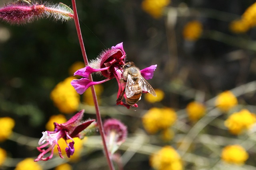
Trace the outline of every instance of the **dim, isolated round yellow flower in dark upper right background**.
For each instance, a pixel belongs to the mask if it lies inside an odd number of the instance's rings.
[[[188,22],[183,29],[183,37],[188,41],[196,41],[202,34],[203,25],[199,21]]]

